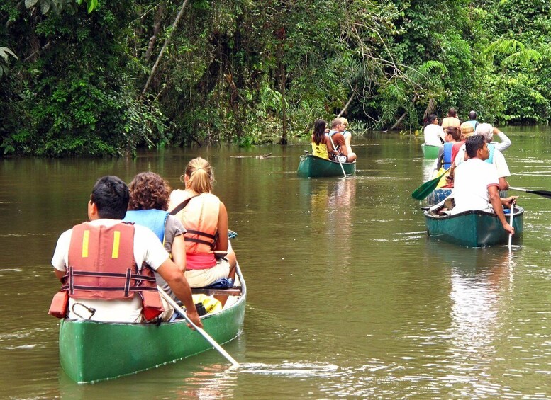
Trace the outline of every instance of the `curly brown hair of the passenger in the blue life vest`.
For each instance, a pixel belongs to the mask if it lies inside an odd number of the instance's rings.
[[[154,172],[138,173],[130,182],[128,210],[168,210],[170,186]]]

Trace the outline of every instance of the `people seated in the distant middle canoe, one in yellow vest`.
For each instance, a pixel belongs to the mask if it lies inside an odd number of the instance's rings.
[[[312,154],[322,159],[351,163],[356,160],[350,142],[352,133],[347,130],[346,118],[335,118],[330,129],[324,120],[316,120],[312,134]]]

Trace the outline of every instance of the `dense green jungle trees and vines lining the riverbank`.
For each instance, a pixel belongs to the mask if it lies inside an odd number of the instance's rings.
[[[548,123],[546,0],[4,0],[0,154],[309,135],[342,113]]]

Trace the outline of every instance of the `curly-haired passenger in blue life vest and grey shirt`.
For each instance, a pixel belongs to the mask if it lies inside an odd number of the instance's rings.
[[[184,244],[186,229],[177,217],[170,215],[167,211],[169,198],[170,186],[167,181],[157,173],[138,173],[130,182],[130,201],[123,221],[134,222],[151,229],[171,255],[172,262],[184,273],[186,270],[186,245]],[[157,285],[174,297],[167,282],[158,273],[155,273],[155,279]]]

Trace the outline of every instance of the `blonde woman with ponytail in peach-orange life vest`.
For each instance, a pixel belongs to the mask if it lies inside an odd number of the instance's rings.
[[[205,287],[222,278],[235,279],[235,253],[228,241],[226,206],[212,194],[213,168],[197,157],[180,177],[184,190],[170,193],[169,211],[186,229],[185,276],[191,287]]]

